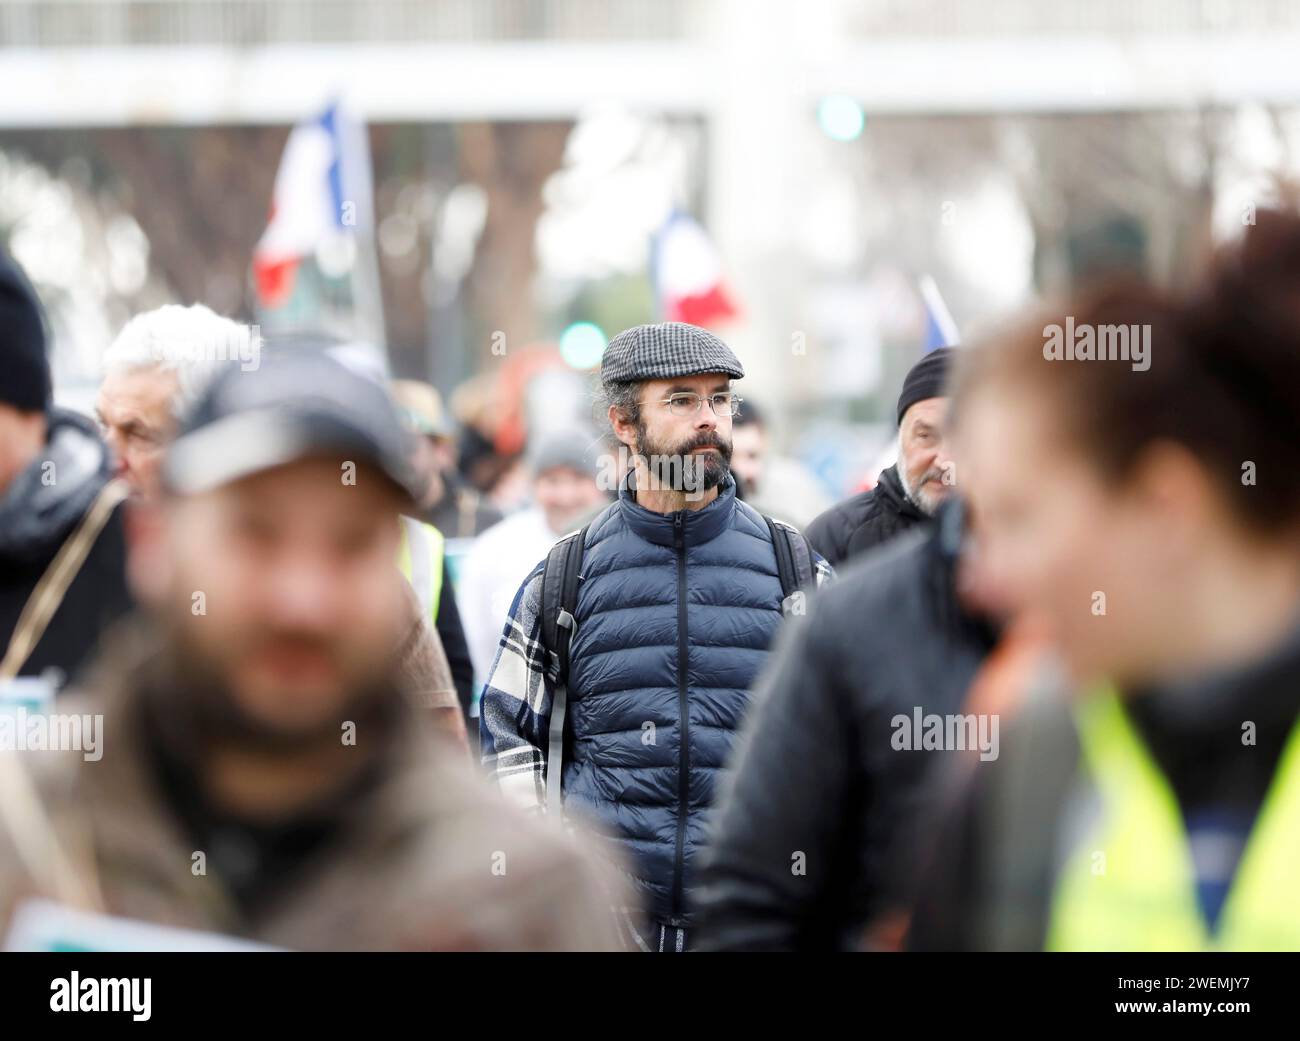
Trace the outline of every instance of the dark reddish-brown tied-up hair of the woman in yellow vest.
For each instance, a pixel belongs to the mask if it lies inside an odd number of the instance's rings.
[[[1060,364],[1044,348],[1050,324],[1149,329],[1148,368],[1127,359]],[[1170,441],[1213,476],[1248,529],[1300,525],[1300,214],[1261,211],[1254,226],[1190,291],[1135,277],[1086,289],[1065,305],[963,351],[953,418],[987,386],[1046,400],[1057,431],[1123,480],[1143,448]],[[1243,481],[1247,464],[1256,482]]]

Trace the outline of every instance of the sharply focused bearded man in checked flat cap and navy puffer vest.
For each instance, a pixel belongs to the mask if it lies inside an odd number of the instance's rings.
[[[771,530],[728,470],[731,381],[744,374],[718,337],[680,322],[619,334],[601,364],[632,468],[585,529],[563,798],[566,817],[594,825],[629,871],[641,907],[618,910],[642,950],[688,946],[696,851],[783,617]],[[820,582],[829,567],[812,561]],[[558,676],[542,646],[542,573],[515,597],[480,723],[484,764],[538,810]]]

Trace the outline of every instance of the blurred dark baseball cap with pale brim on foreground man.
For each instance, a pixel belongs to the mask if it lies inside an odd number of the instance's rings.
[[[387,391],[308,348],[226,366],[168,450],[164,485],[192,495],[299,459],[368,463],[417,498],[408,434]]]

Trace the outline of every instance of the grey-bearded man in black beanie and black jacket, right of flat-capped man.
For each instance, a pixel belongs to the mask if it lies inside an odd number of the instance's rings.
[[[898,461],[876,486],[827,509],[805,534],[832,567],[927,521],[956,483],[944,450],[945,383],[954,348],[940,347],[911,366],[898,395]]]

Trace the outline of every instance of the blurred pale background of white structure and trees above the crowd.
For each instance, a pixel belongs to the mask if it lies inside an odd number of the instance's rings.
[[[838,491],[890,434],[918,277],[970,334],[1106,268],[1183,279],[1288,192],[1297,45],[1282,0],[0,0],[0,235],[69,379],[131,311],[252,317],[287,129],[342,97],[395,372],[450,391],[653,320],[682,209],[745,394]]]

